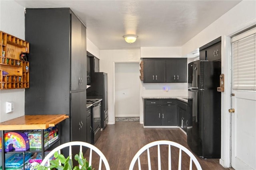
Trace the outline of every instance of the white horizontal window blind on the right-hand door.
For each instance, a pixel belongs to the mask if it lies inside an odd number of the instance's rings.
[[[256,90],[256,28],[232,37],[232,88]]]

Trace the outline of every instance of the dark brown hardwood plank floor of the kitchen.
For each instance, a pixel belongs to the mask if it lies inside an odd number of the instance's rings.
[[[133,156],[144,145],[157,140],[169,140],[180,143],[189,149],[187,145],[186,135],[178,128],[143,128],[139,122],[116,122],[115,125],[108,125],[95,143],[95,146],[106,156],[111,170],[128,170]],[[167,170],[168,148],[160,147],[162,158],[162,170]],[[190,149],[189,149],[190,150]],[[163,153],[162,153],[163,151]],[[156,149],[150,150],[151,160],[156,160]],[[86,152],[85,155],[88,155]],[[93,154],[94,157],[95,154]],[[178,149],[172,150],[172,169],[178,169]],[[219,164],[219,159],[203,159],[196,156],[203,170],[225,170]],[[148,169],[145,165],[147,157],[141,159],[142,169]],[[93,168],[98,169],[98,162],[94,158],[92,162]],[[156,161],[157,162],[157,161]],[[186,154],[182,154],[182,170],[188,169],[189,158]],[[146,166],[146,167],[145,167]],[[138,169],[135,164],[134,169]],[[104,169],[104,168],[103,168]],[[152,163],[152,170],[158,169],[157,163]],[[193,166],[195,169],[195,166]],[[230,168],[231,169],[231,168]]]

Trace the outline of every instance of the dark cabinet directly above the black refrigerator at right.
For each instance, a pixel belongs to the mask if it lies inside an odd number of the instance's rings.
[[[199,48],[200,60],[221,61],[221,37]]]

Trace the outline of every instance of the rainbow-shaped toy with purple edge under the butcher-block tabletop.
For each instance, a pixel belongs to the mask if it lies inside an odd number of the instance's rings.
[[[13,131],[5,133],[4,140],[6,152],[13,149],[15,149],[15,151],[24,151],[29,149],[28,137],[22,132]]]

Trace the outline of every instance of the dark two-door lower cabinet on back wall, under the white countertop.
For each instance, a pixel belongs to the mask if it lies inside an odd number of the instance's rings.
[[[175,99],[145,99],[145,126],[176,126],[177,106]]]

